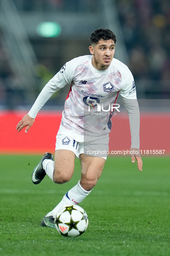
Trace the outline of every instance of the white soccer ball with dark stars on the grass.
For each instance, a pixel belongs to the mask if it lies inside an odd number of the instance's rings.
[[[54,223],[61,235],[74,237],[86,231],[89,220],[82,207],[65,205],[57,212]]]

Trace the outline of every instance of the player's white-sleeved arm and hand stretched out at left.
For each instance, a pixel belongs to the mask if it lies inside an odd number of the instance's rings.
[[[33,125],[35,117],[39,110],[43,107],[43,105],[47,102],[47,100],[54,94],[63,88],[66,84],[70,84],[72,81],[72,76],[74,73],[74,63],[75,59],[67,62],[61,70],[45,85],[43,90],[40,92],[37,97],[34,105],[26,114],[22,120],[18,123],[16,129],[21,131],[24,127],[26,127],[25,132],[29,130],[29,128]]]

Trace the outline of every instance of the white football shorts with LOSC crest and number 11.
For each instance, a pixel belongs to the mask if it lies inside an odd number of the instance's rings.
[[[85,154],[87,157],[102,157],[106,160],[108,143],[108,134],[104,136],[84,136],[68,131],[60,125],[56,136],[55,150],[70,150],[78,158],[80,154]]]

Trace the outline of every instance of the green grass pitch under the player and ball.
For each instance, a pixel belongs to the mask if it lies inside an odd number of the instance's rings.
[[[76,185],[79,159],[70,182],[57,185],[45,177],[34,185],[31,174],[40,159],[0,155],[0,255],[170,255],[169,158],[143,158],[140,172],[130,158],[109,157],[98,184],[80,204],[89,227],[77,238],[40,222]]]

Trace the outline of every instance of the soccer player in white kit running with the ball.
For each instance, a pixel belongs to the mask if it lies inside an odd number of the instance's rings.
[[[25,132],[28,132],[37,113],[51,95],[71,83],[56,136],[55,161],[51,153],[45,153],[33,170],[32,181],[39,184],[47,174],[55,183],[68,182],[74,172],[75,156],[81,161],[81,180],[64,195],[51,212],[46,214],[41,226],[55,227],[56,212],[66,204],[79,204],[97,183],[107,153],[97,157],[93,153],[96,149],[108,151],[108,133],[112,125],[111,111],[109,114],[106,113],[107,115],[99,114],[97,111],[99,105],[105,109],[109,104],[115,103],[118,93],[129,115],[131,150],[139,151],[140,117],[135,84],[128,67],[113,58],[116,36],[109,29],[100,28],[91,34],[90,40],[91,55],[77,57],[67,62],[46,84],[31,110],[16,128],[21,131],[26,127]],[[140,154],[132,155],[132,162],[135,162],[135,159],[138,169],[142,171]]]

